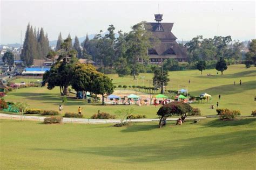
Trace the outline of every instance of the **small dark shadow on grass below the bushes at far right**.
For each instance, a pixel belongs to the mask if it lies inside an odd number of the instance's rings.
[[[237,119],[234,119],[233,121],[221,121],[220,119],[215,119],[203,125],[207,127],[220,128],[223,126],[246,125],[246,124],[251,124],[253,122],[256,123],[256,118],[237,118]]]

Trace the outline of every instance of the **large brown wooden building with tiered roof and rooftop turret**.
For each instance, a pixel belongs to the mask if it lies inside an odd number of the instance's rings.
[[[152,36],[159,39],[159,43],[148,49],[151,64],[161,64],[165,59],[173,58],[179,62],[187,61],[186,48],[180,47],[173,35],[173,23],[161,23],[162,14],[154,15],[156,23],[145,23],[145,29],[152,32]]]

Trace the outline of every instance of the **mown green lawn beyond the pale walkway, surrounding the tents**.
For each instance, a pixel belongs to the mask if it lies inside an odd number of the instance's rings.
[[[207,76],[211,73],[213,76]],[[132,76],[118,77],[117,74],[108,75],[113,79],[115,86],[136,85],[136,80]],[[138,85],[149,87],[149,81],[152,80],[153,74],[145,73],[140,74],[138,77],[145,76],[145,80],[138,79]],[[217,75],[215,69],[204,70],[203,75],[200,75],[198,70],[185,70],[177,72],[169,72],[170,82],[167,89],[178,90],[178,87],[188,86],[188,91],[191,95],[198,96],[201,93],[208,93],[212,95],[212,104],[216,104],[218,95],[221,95],[219,101],[220,108],[238,109],[242,115],[250,115],[252,110],[255,110],[256,102],[256,68],[251,67],[246,69],[245,65],[232,65],[228,66],[224,75]],[[33,79],[17,79],[16,82],[30,82]],[[188,84],[188,80],[191,81]],[[239,80],[242,80],[242,86],[239,86]],[[34,79],[37,81],[37,79]],[[233,82],[237,85],[233,85]],[[152,87],[152,84],[151,84]],[[186,87],[183,87],[186,88]],[[6,101],[24,101],[30,105],[30,108],[51,109],[58,110],[58,105],[62,99],[59,95],[59,88],[53,90],[43,88],[24,88],[10,92],[6,97]],[[87,104],[83,100],[69,100],[64,106],[63,112],[77,112],[79,106],[84,107],[83,114],[86,118],[97,113],[98,110],[114,114],[116,110],[122,108],[133,107],[136,114],[147,115],[149,118],[156,117],[156,112],[159,107],[154,106],[102,106],[97,104]],[[192,104],[192,107],[198,107],[203,115],[215,115],[215,109],[210,109],[210,103],[205,104]],[[64,113],[63,113],[64,114]]]

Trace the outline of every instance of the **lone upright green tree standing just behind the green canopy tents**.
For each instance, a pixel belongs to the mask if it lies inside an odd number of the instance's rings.
[[[161,88],[161,94],[164,94],[164,86],[167,86],[169,81],[168,72],[163,69],[154,70],[153,85],[156,88]]]

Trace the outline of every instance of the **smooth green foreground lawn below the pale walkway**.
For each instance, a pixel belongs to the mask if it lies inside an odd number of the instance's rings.
[[[256,119],[45,125],[0,119],[1,169],[255,169]]]

